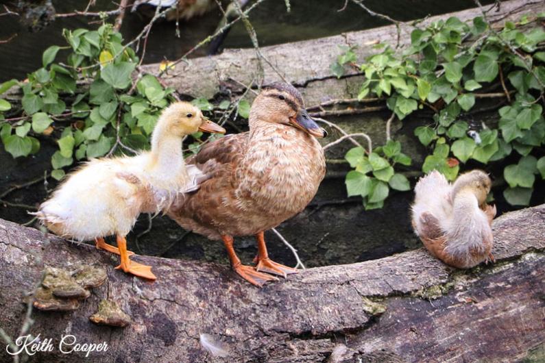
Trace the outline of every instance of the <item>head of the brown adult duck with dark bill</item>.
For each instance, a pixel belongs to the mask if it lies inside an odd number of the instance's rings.
[[[326,130],[319,127],[304,108],[303,97],[297,88],[287,83],[274,83],[256,97],[250,110],[250,120],[291,125],[302,131],[324,138]]]

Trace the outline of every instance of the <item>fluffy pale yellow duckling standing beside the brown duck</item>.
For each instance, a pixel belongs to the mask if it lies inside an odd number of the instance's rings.
[[[151,266],[132,262],[125,236],[138,214],[168,208],[178,192],[198,188],[203,177],[195,166],[186,168],[182,138],[197,130],[224,133],[191,103],[173,103],[165,109],[152,134],[152,149],[133,157],[91,160],[69,175],[36,216],[58,236],[95,240],[99,249],[121,255],[117,268],[156,279]],[[183,194],[182,194],[183,197]],[[117,246],[104,236],[117,235]]]

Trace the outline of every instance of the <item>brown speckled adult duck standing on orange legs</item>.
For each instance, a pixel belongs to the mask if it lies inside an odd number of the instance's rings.
[[[316,138],[326,131],[304,109],[300,92],[289,84],[265,88],[250,110],[250,132],[228,135],[206,145],[188,164],[210,179],[179,199],[168,215],[185,229],[223,240],[234,271],[256,286],[286,277],[295,269],[270,260],[264,232],[301,212],[326,173]],[[254,235],[258,255],[245,266],[233,249],[236,236]]]

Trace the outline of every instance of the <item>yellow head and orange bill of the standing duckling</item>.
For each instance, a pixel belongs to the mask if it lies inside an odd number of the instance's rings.
[[[197,131],[224,134],[223,127],[206,118],[199,108],[189,102],[175,102],[169,105],[162,114],[159,123],[176,136],[194,134]]]

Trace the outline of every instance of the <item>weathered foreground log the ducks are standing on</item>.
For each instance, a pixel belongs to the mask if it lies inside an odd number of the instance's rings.
[[[45,266],[89,264],[107,279],[77,310],[32,312],[30,333],[52,338],[53,349],[31,361],[81,362],[85,353],[59,351],[63,334],[106,342],[107,351],[90,353],[93,362],[537,361],[545,348],[545,204],[500,216],[493,231],[496,263],[468,271],[419,249],[309,268],[258,289],[225,265],[135,256],[159,277],[146,282],[115,270],[117,256],[0,220],[0,327],[19,334],[25,292]],[[89,321],[105,299],[130,325]],[[221,341],[228,356],[210,355],[200,334]],[[9,359],[2,347],[0,361]]]

